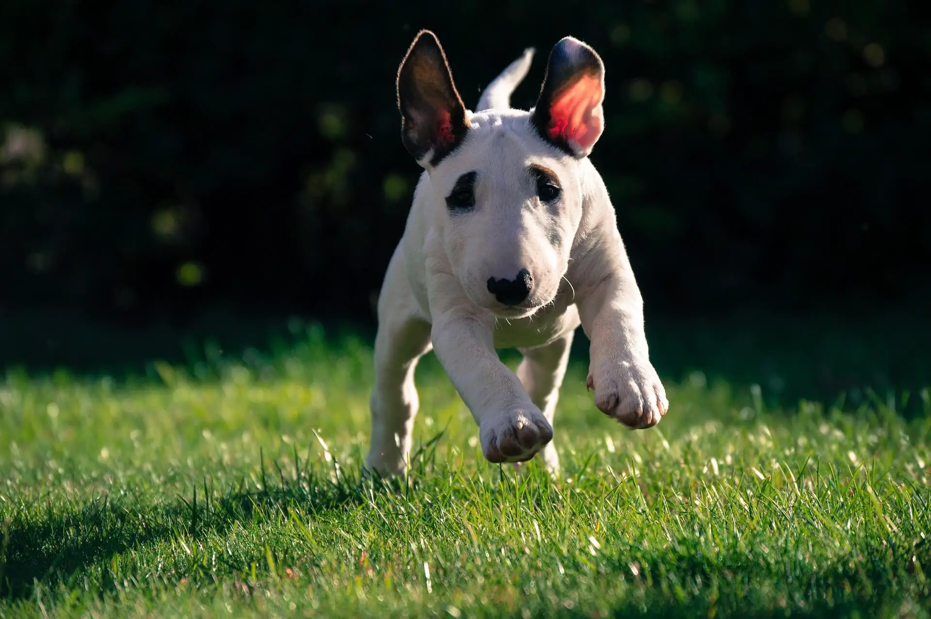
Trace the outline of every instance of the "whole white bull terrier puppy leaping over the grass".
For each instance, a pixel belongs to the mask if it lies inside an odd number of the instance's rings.
[[[587,158],[603,128],[603,65],[566,37],[533,110],[509,109],[532,56],[492,82],[479,112],[463,105],[434,34],[417,34],[398,71],[402,139],[425,172],[378,301],[366,466],[381,475],[405,470],[414,368],[431,346],[492,463],[543,451],[559,468],[553,413],[580,324],[601,411],[646,428],[668,409],[614,207]],[[495,352],[506,347],[523,354],[516,375]]]

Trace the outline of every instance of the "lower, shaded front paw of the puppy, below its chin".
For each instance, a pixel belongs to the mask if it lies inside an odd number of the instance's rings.
[[[509,410],[482,423],[479,437],[489,462],[524,462],[552,440],[553,426],[539,410]]]

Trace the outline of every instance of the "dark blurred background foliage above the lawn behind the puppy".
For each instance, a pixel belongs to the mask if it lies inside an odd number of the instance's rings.
[[[902,0],[4,0],[0,367],[169,355],[173,334],[287,316],[371,330],[420,172],[394,80],[430,28],[469,107],[524,47],[537,47],[512,100],[525,109],[560,37],[599,51],[606,129],[591,158],[648,326],[679,349],[670,371],[710,364],[712,348],[736,371],[763,347],[741,332],[810,342],[791,327],[802,320],[873,333],[897,359],[863,352],[870,370],[826,389],[876,371],[926,381],[925,13]],[[726,335],[683,352],[715,319],[707,333]]]

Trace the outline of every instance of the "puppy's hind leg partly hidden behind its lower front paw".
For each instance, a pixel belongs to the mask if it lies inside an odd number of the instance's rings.
[[[536,348],[521,348],[523,360],[518,366],[518,378],[527,390],[533,404],[546,416],[546,421],[553,425],[553,415],[560,399],[560,385],[569,365],[569,350],[573,345],[575,331],[569,331],[555,342]],[[555,439],[543,448],[543,462],[550,472],[560,469],[560,456],[556,453]]]

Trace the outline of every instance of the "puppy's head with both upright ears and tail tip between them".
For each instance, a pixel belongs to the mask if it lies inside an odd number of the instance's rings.
[[[530,51],[515,75],[518,62],[492,87],[513,89]],[[488,100],[506,108],[509,92]],[[582,218],[580,162],[600,137],[603,99],[598,54],[566,37],[550,52],[531,112],[472,113],[437,37],[414,39],[398,70],[402,140],[429,174],[429,214],[473,303],[520,317],[556,297]]]

